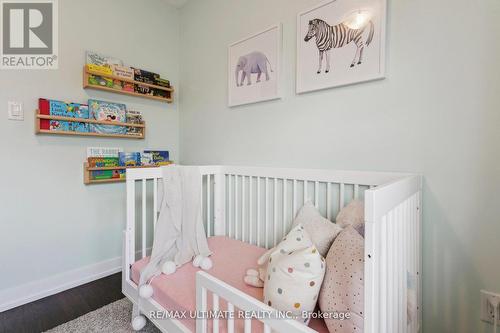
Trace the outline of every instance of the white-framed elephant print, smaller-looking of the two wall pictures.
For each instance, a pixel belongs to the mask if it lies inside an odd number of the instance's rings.
[[[229,106],[281,98],[281,47],[281,25],[229,46]]]

